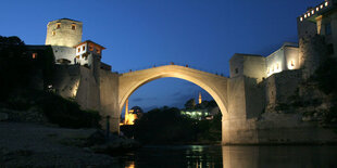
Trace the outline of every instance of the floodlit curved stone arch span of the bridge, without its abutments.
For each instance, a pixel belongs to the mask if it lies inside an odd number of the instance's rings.
[[[165,65],[143,70],[121,74],[118,77],[118,108],[120,115],[126,100],[139,87],[160,78],[179,78],[190,81],[204,89],[217,103],[223,116],[227,114],[227,82],[228,78],[197,70],[179,65]]]

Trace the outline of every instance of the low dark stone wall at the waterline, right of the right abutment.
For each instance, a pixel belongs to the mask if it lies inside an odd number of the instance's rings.
[[[316,122],[302,121],[299,114],[264,113],[257,121],[259,143],[327,143],[337,134]]]

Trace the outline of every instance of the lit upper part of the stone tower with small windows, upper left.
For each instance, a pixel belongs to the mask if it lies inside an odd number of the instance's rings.
[[[61,18],[47,25],[46,44],[73,48],[82,42],[82,22]]]

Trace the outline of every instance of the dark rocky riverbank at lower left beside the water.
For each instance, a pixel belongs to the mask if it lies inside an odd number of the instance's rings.
[[[0,167],[114,166],[112,156],[139,147],[97,129],[65,129],[28,122],[0,121]]]

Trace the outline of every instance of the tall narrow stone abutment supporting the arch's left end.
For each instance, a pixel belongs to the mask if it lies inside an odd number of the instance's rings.
[[[103,69],[100,69],[100,113],[103,128],[110,116],[110,130],[120,132],[118,74]]]

